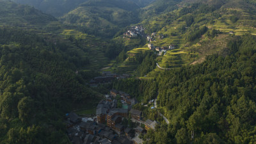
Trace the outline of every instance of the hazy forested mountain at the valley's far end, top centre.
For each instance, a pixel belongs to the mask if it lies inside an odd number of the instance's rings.
[[[86,33],[113,36],[117,31],[138,22],[139,6],[124,0],[91,0],[60,18]]]

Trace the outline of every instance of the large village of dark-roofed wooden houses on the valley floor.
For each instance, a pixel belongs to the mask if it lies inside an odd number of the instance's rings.
[[[151,100],[154,102],[154,100]],[[142,111],[132,109],[138,100],[125,92],[111,90],[97,105],[96,116],[81,118],[66,114],[68,138],[74,144],[139,144],[140,134],[156,129],[155,120],[142,120]],[[127,124],[130,120],[133,125]]]

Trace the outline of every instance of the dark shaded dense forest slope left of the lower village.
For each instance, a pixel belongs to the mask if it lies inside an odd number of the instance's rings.
[[[44,38],[1,28],[0,44],[0,143],[68,143],[64,114],[97,93]]]

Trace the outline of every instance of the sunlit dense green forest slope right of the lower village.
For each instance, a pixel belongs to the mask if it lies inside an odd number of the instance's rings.
[[[148,131],[145,143],[254,143],[255,40],[252,35],[234,37],[228,56],[214,54],[200,65],[156,73],[150,81],[116,82],[114,88],[147,100],[158,92],[157,103],[170,125]]]

